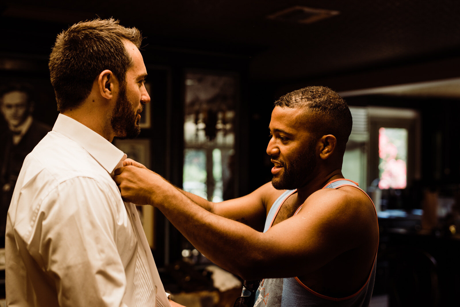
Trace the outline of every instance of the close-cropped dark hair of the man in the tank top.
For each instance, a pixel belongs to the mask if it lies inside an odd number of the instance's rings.
[[[345,151],[353,120],[350,108],[335,91],[325,86],[308,86],[280,97],[275,106],[305,108],[306,112],[314,113],[316,125],[312,132],[315,136],[332,134],[339,148]]]

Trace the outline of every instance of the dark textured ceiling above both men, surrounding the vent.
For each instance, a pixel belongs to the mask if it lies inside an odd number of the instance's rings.
[[[168,0],[3,2],[6,36],[55,37],[68,24],[115,17],[143,31],[146,50],[204,50],[250,57],[253,80],[295,80],[393,63],[455,57],[458,0]],[[267,18],[291,6],[339,11],[312,24]],[[27,45],[26,43],[24,43]],[[6,46],[17,51],[24,46]],[[50,45],[29,48],[49,50]],[[168,49],[166,49],[168,50]]]

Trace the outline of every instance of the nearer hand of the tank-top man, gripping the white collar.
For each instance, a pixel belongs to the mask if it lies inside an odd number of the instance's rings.
[[[160,175],[132,160],[123,161],[123,167],[115,170],[114,180],[124,201],[136,205],[155,205],[151,196],[167,183]]]

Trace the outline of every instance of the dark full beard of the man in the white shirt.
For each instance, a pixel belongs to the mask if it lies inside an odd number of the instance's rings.
[[[112,129],[118,138],[132,139],[139,135],[141,127],[138,123],[138,113],[141,113],[143,109],[142,104],[137,111],[132,109],[132,102],[126,96],[126,84],[122,85],[110,119]]]

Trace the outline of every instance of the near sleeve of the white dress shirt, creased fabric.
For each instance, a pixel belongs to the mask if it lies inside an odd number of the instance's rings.
[[[32,241],[55,283],[60,306],[126,306],[126,273],[116,244],[117,201],[104,183],[76,177],[60,183],[40,206]],[[127,216],[127,215],[125,215]],[[135,244],[135,243],[133,243]]]

